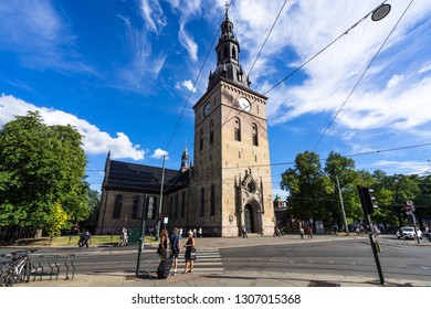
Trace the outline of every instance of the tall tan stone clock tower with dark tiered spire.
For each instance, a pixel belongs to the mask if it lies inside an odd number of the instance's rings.
[[[204,234],[270,235],[274,228],[266,97],[250,88],[240,64],[240,43],[228,10],[221,24],[217,68],[193,106],[195,167],[190,221]]]

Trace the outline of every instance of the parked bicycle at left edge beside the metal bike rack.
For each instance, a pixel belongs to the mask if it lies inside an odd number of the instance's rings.
[[[29,280],[31,270],[29,254],[33,252],[35,249],[19,251],[0,257],[0,286],[12,287],[17,281]]]

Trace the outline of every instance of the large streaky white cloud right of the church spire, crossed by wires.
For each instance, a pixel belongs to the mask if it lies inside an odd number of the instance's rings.
[[[245,67],[254,61],[282,4],[282,0],[250,0],[235,2],[231,8],[230,17],[240,44],[250,52]],[[337,1],[336,6],[332,1],[287,2],[253,70],[251,78],[259,76],[254,88],[265,93],[378,4],[354,0]],[[334,116],[347,100],[336,119],[336,124],[347,129],[414,132],[418,126],[428,124],[430,127],[431,81],[427,46],[431,43],[431,21],[427,15],[431,13],[431,7],[423,1],[409,9],[349,97],[407,6],[407,2],[393,4],[390,14],[379,22],[369,18],[362,20],[296,75],[269,93],[270,124],[280,125],[306,114]],[[420,26],[413,26],[421,20]],[[292,56],[297,58],[294,63]],[[406,57],[409,57],[408,62]],[[299,74],[299,78],[305,77],[301,84],[297,83]]]

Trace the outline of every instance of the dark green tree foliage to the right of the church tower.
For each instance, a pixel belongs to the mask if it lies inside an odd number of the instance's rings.
[[[348,224],[364,217],[357,185],[374,189],[378,209],[372,213],[376,223],[402,226],[409,223],[404,214],[406,201],[417,205],[419,220],[431,216],[431,177],[387,175],[355,170],[355,161],[330,152],[322,167],[318,154],[298,153],[295,166],[282,173],[281,188],[288,191],[287,204],[292,217],[313,219],[344,226],[337,185],[339,182]]]

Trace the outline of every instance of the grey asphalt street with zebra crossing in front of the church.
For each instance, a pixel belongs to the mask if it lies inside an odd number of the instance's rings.
[[[292,239],[292,235],[280,238],[223,239],[224,243],[241,245],[218,247],[217,238],[199,239],[198,259],[195,273],[229,276],[233,271],[264,271],[274,274],[305,274],[375,277],[378,273],[369,238],[343,236],[325,239]],[[337,239],[337,241],[335,241]],[[260,242],[256,244],[256,242]],[[208,244],[211,243],[211,246]],[[431,284],[431,244],[424,239],[421,245],[414,241],[399,241],[392,235],[378,237],[381,247],[380,265],[386,280],[421,280]],[[39,248],[39,255],[75,254],[76,274],[120,274],[134,276],[137,267],[137,246]],[[139,270],[154,274],[159,263],[156,247],[145,246]],[[183,258],[179,258],[179,273]]]

